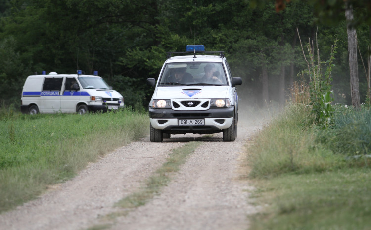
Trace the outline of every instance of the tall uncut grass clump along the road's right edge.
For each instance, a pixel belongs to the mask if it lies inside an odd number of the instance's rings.
[[[341,167],[343,157],[315,142],[316,134],[308,126],[310,108],[288,106],[264,130],[249,148],[250,176],[275,177],[282,173],[323,172]]]

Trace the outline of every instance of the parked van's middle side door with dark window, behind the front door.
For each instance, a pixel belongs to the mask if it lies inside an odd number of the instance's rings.
[[[60,108],[60,95],[63,77],[45,77],[43,91],[40,94],[40,112],[55,113]]]

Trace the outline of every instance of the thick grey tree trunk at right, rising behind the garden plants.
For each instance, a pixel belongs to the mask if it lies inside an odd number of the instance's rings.
[[[345,17],[347,20],[348,32],[348,53],[349,53],[349,69],[350,69],[350,91],[352,95],[352,104],[355,108],[360,108],[360,92],[358,87],[358,66],[357,66],[357,32],[353,21],[353,6],[351,3],[345,2]]]

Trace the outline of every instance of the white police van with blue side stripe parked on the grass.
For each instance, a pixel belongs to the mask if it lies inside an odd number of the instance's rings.
[[[124,107],[124,97],[112,90],[99,76],[77,74],[49,74],[28,76],[23,86],[21,112],[75,113],[107,111]]]

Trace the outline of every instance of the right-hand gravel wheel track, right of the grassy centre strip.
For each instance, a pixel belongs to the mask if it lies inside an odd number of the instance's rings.
[[[257,127],[239,129],[235,142],[204,139],[159,196],[119,217],[111,230],[245,230],[253,189],[238,172],[243,147]],[[177,141],[177,138],[167,141]]]

